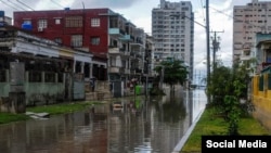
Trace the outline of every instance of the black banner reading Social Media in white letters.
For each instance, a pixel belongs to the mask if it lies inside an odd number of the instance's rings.
[[[202,136],[202,153],[219,151],[271,152],[271,136]]]

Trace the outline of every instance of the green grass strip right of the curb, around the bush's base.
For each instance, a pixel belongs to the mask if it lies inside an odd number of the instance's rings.
[[[253,117],[241,118],[238,126],[240,135],[270,135],[270,131]],[[211,109],[206,109],[180,153],[201,153],[203,135],[225,136],[227,133],[228,123],[222,117],[216,116]]]

